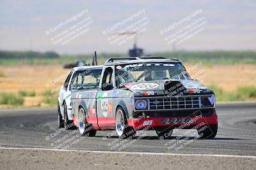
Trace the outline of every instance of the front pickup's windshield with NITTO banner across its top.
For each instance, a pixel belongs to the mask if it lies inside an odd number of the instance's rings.
[[[116,66],[118,85],[136,81],[187,80],[189,74],[180,62],[138,63]]]

